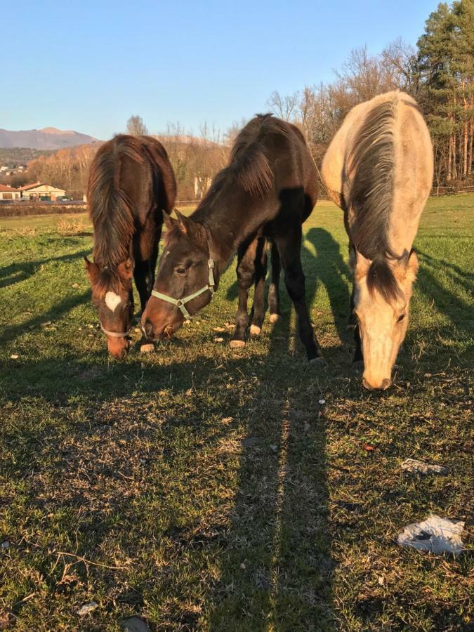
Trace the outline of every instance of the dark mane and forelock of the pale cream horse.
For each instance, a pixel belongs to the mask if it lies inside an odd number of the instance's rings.
[[[348,206],[353,210],[351,239],[365,258],[371,260],[367,287],[377,289],[386,301],[400,295],[388,259],[400,259],[388,243],[388,227],[393,206],[395,149],[394,108],[390,99],[373,107],[357,133],[349,154],[351,174]]]

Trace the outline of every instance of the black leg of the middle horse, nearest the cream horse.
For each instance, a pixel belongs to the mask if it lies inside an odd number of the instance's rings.
[[[308,306],[305,298],[305,275],[301,266],[301,225],[284,237],[275,238],[288,294],[295,306],[298,316],[298,333],[303,343],[308,360],[322,359],[320,345],[312,329]]]

